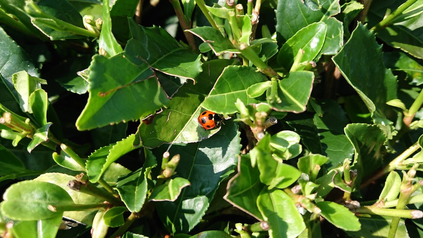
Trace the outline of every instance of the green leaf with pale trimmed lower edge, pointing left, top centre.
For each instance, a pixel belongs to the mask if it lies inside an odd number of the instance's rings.
[[[216,56],[224,53],[240,53],[239,50],[233,47],[232,42],[228,38],[222,36],[222,33],[213,27],[195,27],[186,31],[206,42]]]

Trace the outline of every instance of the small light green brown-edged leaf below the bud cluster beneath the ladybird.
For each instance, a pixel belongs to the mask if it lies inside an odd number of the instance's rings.
[[[148,199],[150,201],[175,201],[184,187],[191,183],[185,178],[174,178],[155,188]]]

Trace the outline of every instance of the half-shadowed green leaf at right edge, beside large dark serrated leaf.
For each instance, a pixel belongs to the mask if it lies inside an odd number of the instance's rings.
[[[386,52],[383,59],[387,68],[395,71],[404,71],[411,85],[423,84],[423,66],[401,52]]]

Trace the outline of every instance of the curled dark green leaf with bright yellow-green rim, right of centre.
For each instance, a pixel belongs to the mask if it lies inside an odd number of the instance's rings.
[[[347,125],[344,131],[354,147],[354,162],[351,169],[357,170],[354,189],[359,191],[362,179],[372,175],[382,165],[381,152],[386,137],[376,125],[354,123]]]

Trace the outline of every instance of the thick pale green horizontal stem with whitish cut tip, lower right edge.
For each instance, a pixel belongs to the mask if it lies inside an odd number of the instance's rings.
[[[376,206],[361,206],[353,210],[355,213],[364,213],[370,215],[379,215],[379,216],[392,216],[398,218],[410,218],[417,219],[423,216],[423,212],[419,210],[402,210],[402,209],[392,209],[392,208],[379,208]]]

